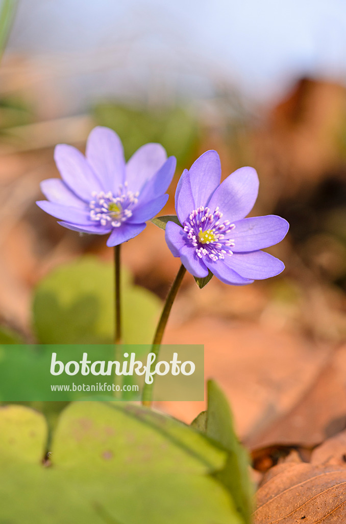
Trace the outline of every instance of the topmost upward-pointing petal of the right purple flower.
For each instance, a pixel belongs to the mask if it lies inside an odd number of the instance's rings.
[[[193,162],[189,173],[195,205],[205,206],[221,181],[221,162],[217,152],[211,149],[203,153]]]

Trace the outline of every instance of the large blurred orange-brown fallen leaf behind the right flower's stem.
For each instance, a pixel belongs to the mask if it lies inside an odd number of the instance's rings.
[[[180,325],[170,321],[164,343],[204,344],[205,377],[221,385],[232,404],[237,433],[241,439],[251,436],[252,447],[258,447],[256,435],[261,430],[290,412],[305,395],[330,350],[297,334],[205,315]],[[205,409],[204,402],[156,406],[187,422]]]

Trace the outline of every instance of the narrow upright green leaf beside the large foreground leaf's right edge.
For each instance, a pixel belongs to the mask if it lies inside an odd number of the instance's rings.
[[[213,380],[208,382],[206,435],[228,451],[225,467],[215,476],[229,489],[238,511],[249,524],[253,496],[248,472],[249,456],[235,434],[228,401]]]

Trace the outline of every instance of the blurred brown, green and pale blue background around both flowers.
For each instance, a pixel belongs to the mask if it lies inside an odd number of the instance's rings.
[[[57,143],[112,127],[126,158],[159,141],[183,168],[216,149],[225,178],[260,178],[253,215],[291,224],[286,270],[248,287],[187,276],[165,342],[204,343],[250,447],[306,445],[346,427],[346,7],[342,0],[3,0],[0,16],[0,324],[32,342],[38,282],[106,239],[34,204]],[[163,214],[174,213],[170,198]],[[140,253],[140,256],[138,255]],[[164,299],[179,261],[148,224],[123,248]],[[63,330],[63,328],[61,328]],[[135,328],[134,328],[135,329]],[[203,403],[163,404],[191,421]]]

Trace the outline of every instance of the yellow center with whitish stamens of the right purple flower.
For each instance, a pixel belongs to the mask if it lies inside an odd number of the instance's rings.
[[[233,255],[230,248],[235,244],[234,240],[229,238],[229,234],[235,225],[229,220],[222,221],[222,216],[218,207],[211,213],[209,208],[200,206],[184,221],[187,242],[195,247],[195,252],[200,258],[205,256],[216,261],[225,258],[225,255]]]

